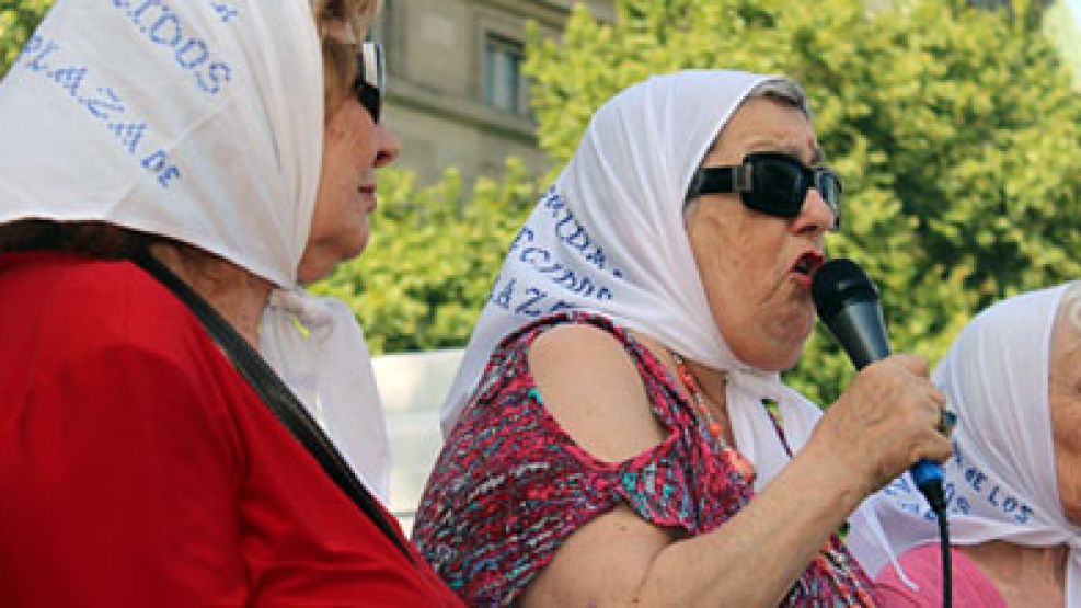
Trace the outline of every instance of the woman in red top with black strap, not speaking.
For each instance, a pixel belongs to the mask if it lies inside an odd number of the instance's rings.
[[[299,287],[364,249],[398,153],[378,5],[60,0],[26,43],[0,84],[0,604],[457,604],[372,497],[356,321]]]

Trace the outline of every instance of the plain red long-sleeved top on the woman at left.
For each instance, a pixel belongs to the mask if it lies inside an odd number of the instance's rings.
[[[24,253],[0,256],[0,605],[458,600],[152,277]]]

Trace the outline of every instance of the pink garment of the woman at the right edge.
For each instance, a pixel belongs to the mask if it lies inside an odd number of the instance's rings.
[[[936,543],[921,544],[901,554],[901,567],[920,590],[908,588],[893,565],[875,578],[879,606],[938,608],[942,606],[942,550]],[[1007,608],[1005,600],[976,562],[957,548],[950,550],[953,562],[953,605],[958,608]]]

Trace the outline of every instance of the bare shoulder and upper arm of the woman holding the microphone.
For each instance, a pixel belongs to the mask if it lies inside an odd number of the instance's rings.
[[[572,324],[545,332],[530,347],[529,368],[548,412],[599,460],[626,460],[667,435],[631,355],[600,328]],[[563,541],[521,604],[625,605],[672,540],[671,530],[617,506]]]

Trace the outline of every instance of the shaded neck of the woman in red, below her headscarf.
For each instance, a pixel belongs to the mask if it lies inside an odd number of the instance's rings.
[[[203,250],[156,243],[150,253],[207,300],[240,335],[258,348],[258,325],[273,285]]]

